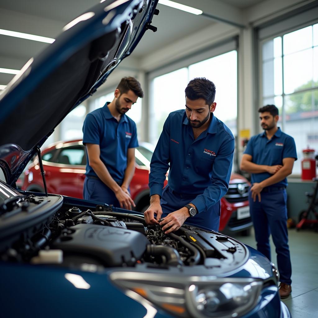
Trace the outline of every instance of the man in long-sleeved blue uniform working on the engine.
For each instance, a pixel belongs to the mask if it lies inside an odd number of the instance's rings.
[[[152,156],[150,206],[144,214],[148,224],[158,224],[163,217],[160,225],[165,233],[178,230],[185,221],[218,231],[234,137],[214,116],[214,97],[210,80],[192,79],[185,89],[185,110],[169,114]],[[168,169],[168,185],[162,190]]]

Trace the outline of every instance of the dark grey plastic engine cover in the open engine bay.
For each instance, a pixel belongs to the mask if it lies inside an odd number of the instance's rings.
[[[149,240],[140,232],[104,225],[78,224],[53,243],[68,255],[97,258],[104,266],[132,266],[146,251]]]

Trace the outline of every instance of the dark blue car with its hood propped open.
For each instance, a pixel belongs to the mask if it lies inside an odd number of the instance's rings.
[[[99,3],[0,95],[2,317],[290,317],[275,266],[235,239],[189,225],[165,235],[142,213],[16,188],[35,154],[45,184],[40,147],[155,31],[156,4]]]

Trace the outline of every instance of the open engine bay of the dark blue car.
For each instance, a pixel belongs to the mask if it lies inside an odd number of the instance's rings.
[[[238,268],[248,257],[242,243],[218,232],[184,224],[165,234],[160,225],[147,225],[138,212],[73,200],[79,204],[58,195],[31,194],[2,205],[1,259],[72,267],[202,266],[221,273]]]

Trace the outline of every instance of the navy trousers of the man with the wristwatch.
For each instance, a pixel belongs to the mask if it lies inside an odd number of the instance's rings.
[[[162,218],[169,213],[179,210],[189,204],[196,195],[181,195],[172,191],[167,185],[162,192],[160,204],[162,207]],[[207,211],[197,213],[194,217],[187,218],[186,224],[192,224],[208,231],[218,231],[220,224],[221,205],[220,201],[212,205]]]

